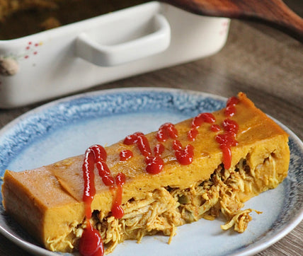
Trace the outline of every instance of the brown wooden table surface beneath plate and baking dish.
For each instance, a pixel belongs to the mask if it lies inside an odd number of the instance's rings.
[[[303,16],[302,0],[285,2]],[[89,91],[127,87],[182,88],[225,97],[243,91],[303,139],[303,45],[265,25],[231,21],[227,44],[211,57]],[[0,110],[0,128],[38,105]],[[29,254],[0,235],[0,255]],[[303,222],[258,255],[303,255]]]

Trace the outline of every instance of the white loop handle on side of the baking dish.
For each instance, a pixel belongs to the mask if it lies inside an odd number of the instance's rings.
[[[154,16],[155,30],[128,42],[104,45],[91,39],[87,33],[76,38],[76,55],[98,66],[116,66],[164,52],[171,41],[171,28],[160,13]]]

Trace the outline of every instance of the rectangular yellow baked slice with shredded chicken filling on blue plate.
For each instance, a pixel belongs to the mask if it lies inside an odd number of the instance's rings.
[[[222,228],[241,233],[252,211],[241,210],[243,202],[277,187],[287,176],[287,134],[244,93],[212,114],[164,124],[145,136],[137,133],[150,149],[158,149],[155,152],[143,147],[149,151],[144,153],[131,141],[135,135],[104,148],[111,177],[125,175],[120,202],[124,214],[119,218],[112,212],[118,186],[109,188],[94,168],[90,221],[101,233],[105,253],[123,240],[141,240],[144,235],[163,233],[171,240],[177,226],[202,217],[215,219],[220,212],[227,219]],[[132,152],[132,157],[121,161],[120,152]],[[148,169],[149,156],[158,156],[163,165]],[[49,250],[76,250],[87,226],[85,158],[4,174],[7,213]]]

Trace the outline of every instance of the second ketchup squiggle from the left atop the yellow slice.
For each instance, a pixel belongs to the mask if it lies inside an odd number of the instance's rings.
[[[161,146],[159,146],[160,149],[156,149],[158,153],[156,153],[155,156],[152,156],[149,141],[147,140],[147,137],[142,134],[142,132],[135,132],[135,134],[126,136],[123,143],[125,145],[137,144],[139,151],[145,157],[145,163],[147,163],[147,173],[157,174],[160,173],[164,168],[164,161],[159,156],[159,152],[161,150],[164,151],[164,149],[161,149]]]

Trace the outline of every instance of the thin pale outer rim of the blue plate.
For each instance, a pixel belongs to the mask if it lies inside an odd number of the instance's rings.
[[[61,103],[68,103],[72,100],[76,100],[79,98],[85,98],[85,97],[94,97],[97,95],[109,95],[109,94],[120,94],[120,93],[147,93],[147,92],[153,92],[153,93],[184,93],[186,95],[197,95],[202,96],[205,98],[212,98],[219,101],[226,101],[227,98],[221,95],[216,95],[212,93],[206,93],[202,91],[194,91],[194,90],[188,90],[188,89],[181,89],[181,88],[165,88],[165,87],[130,87],[130,88],[109,88],[104,90],[98,90],[98,91],[89,91],[84,93],[78,93],[75,95],[69,95],[64,98],[58,98],[56,100],[52,100],[48,103],[42,104],[38,107],[34,107],[31,110],[28,110],[27,112],[24,112],[20,116],[16,117],[15,119],[11,120],[11,122],[8,122],[4,127],[0,129],[0,138],[3,136],[6,132],[8,132],[10,129],[12,129],[16,124],[23,122],[24,120],[27,120],[28,117],[32,115],[38,115],[38,113],[43,112],[44,110],[50,109],[50,107],[54,107],[55,105],[59,105]],[[296,142],[297,146],[299,146],[300,152],[303,152],[303,142],[301,139],[299,139],[299,136],[295,134],[295,132],[292,132],[290,128],[288,128],[285,124],[280,122],[279,120],[276,120],[275,118],[268,115],[271,119],[273,119],[275,122],[277,122],[282,129],[289,134],[290,137]],[[253,245],[252,247],[249,247],[247,249],[241,250],[240,252],[231,253],[231,255],[234,256],[247,256],[247,255],[254,255],[258,252],[261,252],[262,250],[265,250],[266,248],[270,247],[270,245],[273,245],[274,243],[277,243],[278,240],[282,239],[290,233],[296,226],[301,223],[303,220],[303,209],[301,211],[298,211],[295,217],[287,223],[287,225],[282,228],[281,231],[278,231],[278,233],[275,233],[273,235],[270,235],[270,237],[266,238],[265,240],[261,240],[256,242],[256,245]],[[0,233],[4,235],[6,238],[11,240],[16,245],[20,246],[24,250],[39,254],[39,255],[57,255],[56,252],[51,252],[49,250],[46,250],[45,248],[42,248],[38,245],[35,245],[33,243],[30,243],[26,240],[22,240],[21,238],[16,237],[16,235],[13,235],[13,233],[10,233],[7,231],[3,226],[1,226],[0,223]],[[72,254],[71,254],[72,255]]]

